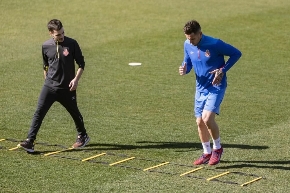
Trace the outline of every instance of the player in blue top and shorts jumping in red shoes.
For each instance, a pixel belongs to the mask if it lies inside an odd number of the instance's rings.
[[[193,164],[216,165],[224,152],[220,145],[220,133],[215,122],[226,90],[226,72],[239,60],[242,53],[235,47],[202,34],[200,24],[191,20],[184,28],[184,61],[179,67],[180,75],[194,68],[196,91],[194,111],[198,133],[204,149],[203,155]],[[225,63],[224,56],[230,56]],[[213,139],[211,152],[210,135]]]

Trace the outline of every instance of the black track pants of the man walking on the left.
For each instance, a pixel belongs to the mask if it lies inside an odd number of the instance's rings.
[[[77,134],[81,136],[86,135],[84,120],[77,107],[76,90],[69,91],[69,89],[54,89],[43,86],[38,98],[37,108],[31,122],[27,139],[36,139],[36,135],[41,126],[42,120],[55,101],[64,106],[73,117],[77,128]]]

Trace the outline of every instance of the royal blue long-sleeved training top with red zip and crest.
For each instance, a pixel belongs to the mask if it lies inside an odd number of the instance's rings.
[[[230,56],[229,60],[224,62],[224,56]],[[186,74],[192,69],[196,76],[196,90],[200,92],[209,92],[217,89],[226,88],[226,71],[228,71],[242,56],[242,53],[237,48],[224,43],[220,39],[215,39],[202,34],[202,38],[197,46],[189,43],[189,40],[184,42],[184,62],[186,62]],[[209,72],[216,69],[221,69],[224,72],[221,83],[218,86],[213,86],[212,81],[215,73]]]

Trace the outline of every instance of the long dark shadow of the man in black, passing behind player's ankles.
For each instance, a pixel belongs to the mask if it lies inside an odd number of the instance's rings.
[[[133,150],[133,149],[186,149],[178,152],[194,151],[202,149],[201,143],[181,143],[181,142],[155,142],[155,141],[136,141],[141,145],[124,145],[124,144],[88,144],[86,147],[105,146],[97,150]],[[212,144],[211,144],[212,146]],[[267,149],[269,146],[250,146],[243,144],[222,144],[224,148],[240,149]]]

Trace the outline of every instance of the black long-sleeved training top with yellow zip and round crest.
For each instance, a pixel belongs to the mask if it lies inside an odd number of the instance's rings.
[[[69,89],[70,81],[75,78],[75,61],[84,69],[85,61],[77,41],[64,36],[63,42],[53,38],[42,45],[44,69],[48,66],[44,85],[56,89]]]

